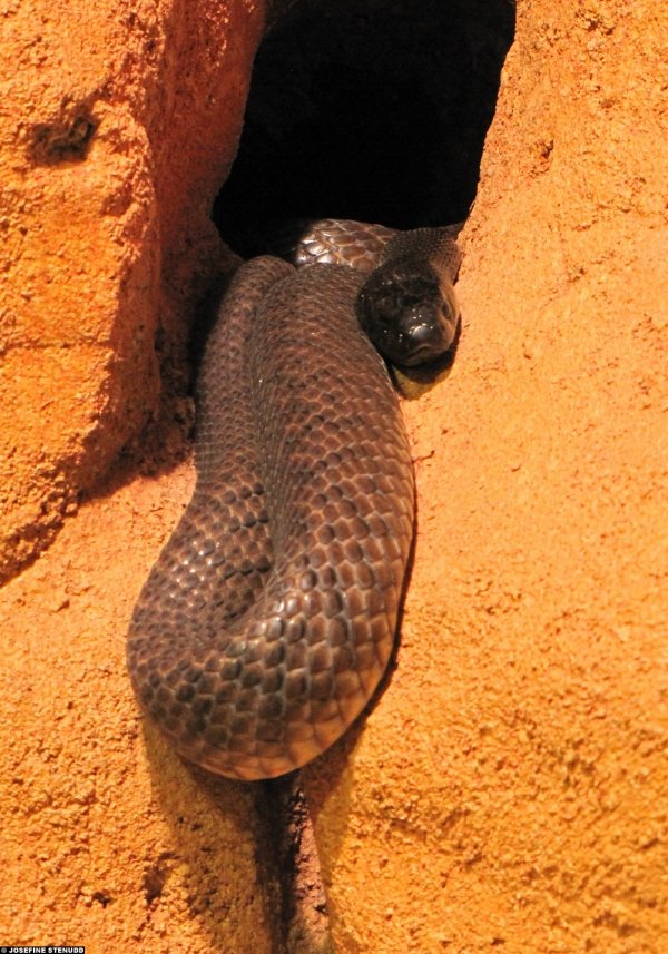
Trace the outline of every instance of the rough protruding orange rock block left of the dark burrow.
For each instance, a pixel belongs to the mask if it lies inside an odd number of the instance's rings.
[[[4,12],[0,580],[157,411],[156,336],[168,368],[220,255],[208,212],[261,28],[250,0]]]

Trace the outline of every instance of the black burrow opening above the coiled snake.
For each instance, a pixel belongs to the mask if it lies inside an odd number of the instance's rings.
[[[214,207],[223,238],[249,257],[303,219],[465,219],[514,18],[512,0],[278,0]]]

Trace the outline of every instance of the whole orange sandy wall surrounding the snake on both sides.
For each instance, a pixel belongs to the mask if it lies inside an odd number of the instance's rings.
[[[167,100],[208,129],[187,89],[210,75],[189,77],[186,91],[164,77],[176,77],[184,47],[210,51],[212,18],[228,14],[237,40],[216,75],[232,155],[259,29],[253,6],[214,13],[202,0],[207,32],[186,29],[184,3],[159,4],[154,40],[169,68],[159,82],[151,73],[150,101],[161,105],[150,121],[128,107],[127,122],[112,95],[91,107],[136,135],[115,138],[108,122],[104,139],[100,124],[85,160],[24,159],[18,171],[19,153],[3,146],[2,175],[27,177],[8,218],[12,249],[26,245],[8,259],[22,324],[10,321],[16,348],[3,356],[7,539],[35,528],[8,576],[31,547],[43,551],[0,596],[0,940],[10,943],[281,950],[256,793],[191,773],[144,728],[124,661],[132,602],[193,485],[189,410],[168,404],[169,382],[155,468],[139,473],[137,455],[118,452],[158,413],[158,314],[163,366],[165,348],[183,362],[177,318],[214,268],[203,210],[223,175],[213,134],[195,136],[190,154],[188,137],[167,147],[167,127],[151,124],[158,114],[165,124]],[[53,57],[65,4],[29,7],[43,13],[39,43]],[[89,11],[90,56],[67,78],[79,100],[102,73],[144,89],[147,61],[121,62],[121,23],[149,7]],[[665,950],[664,7],[519,3],[463,238],[456,361],[404,403],[419,514],[396,670],[364,725],[305,773],[342,954]],[[23,8],[12,16],[19,23]],[[63,88],[38,72],[35,20],[30,31],[31,45],[17,39],[17,58],[33,57],[23,107],[30,95],[56,109]],[[52,68],[65,82],[62,63]],[[47,114],[35,107],[32,124]],[[191,183],[188,209],[169,204],[178,176]],[[138,183],[163,199],[145,200]],[[111,195],[126,206],[108,229],[99,209]],[[169,210],[159,226],[158,207]],[[186,256],[177,273],[174,253],[189,243],[208,249],[204,264],[194,271]],[[109,475],[45,549],[94,473]]]

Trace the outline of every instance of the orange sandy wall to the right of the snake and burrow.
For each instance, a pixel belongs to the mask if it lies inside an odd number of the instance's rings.
[[[520,2],[389,690],[315,764],[336,950],[668,943],[661,2]],[[661,79],[662,77],[662,79]]]

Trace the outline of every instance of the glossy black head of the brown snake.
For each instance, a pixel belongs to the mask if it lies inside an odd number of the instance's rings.
[[[454,341],[460,317],[450,278],[409,256],[371,273],[360,288],[355,311],[383,357],[405,367],[442,357]]]

